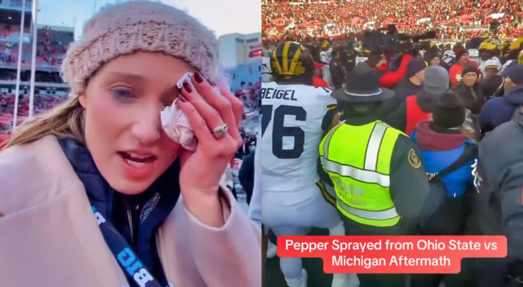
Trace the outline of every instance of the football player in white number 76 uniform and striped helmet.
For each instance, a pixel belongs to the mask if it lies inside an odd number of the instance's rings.
[[[314,62],[297,42],[280,43],[272,52],[275,81],[261,86],[261,222],[280,235],[306,235],[315,226],[331,235],[345,228],[317,174],[318,145],[339,122],[336,100],[326,88],[312,86]],[[280,258],[289,287],[305,287],[301,258]],[[332,286],[359,285],[356,274],[334,274]],[[356,284],[357,283],[357,284]]]

